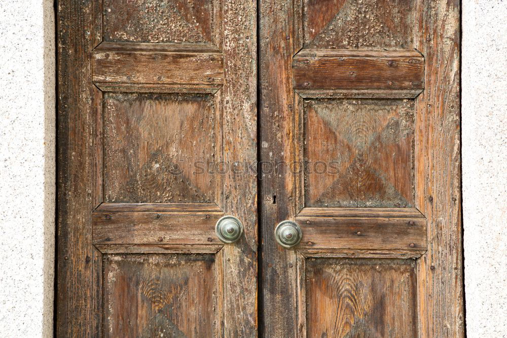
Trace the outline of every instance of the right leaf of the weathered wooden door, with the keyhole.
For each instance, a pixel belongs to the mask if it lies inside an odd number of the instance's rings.
[[[259,13],[261,331],[463,336],[459,1]]]

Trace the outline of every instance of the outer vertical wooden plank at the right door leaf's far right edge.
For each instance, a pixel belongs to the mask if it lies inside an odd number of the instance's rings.
[[[426,60],[417,98],[417,208],[428,251],[417,264],[420,336],[463,336],[460,184],[460,2],[419,0],[416,48]]]

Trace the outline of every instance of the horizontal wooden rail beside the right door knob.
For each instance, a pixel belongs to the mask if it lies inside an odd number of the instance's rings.
[[[427,248],[426,219],[416,209],[305,208],[296,221],[305,256],[417,258]]]

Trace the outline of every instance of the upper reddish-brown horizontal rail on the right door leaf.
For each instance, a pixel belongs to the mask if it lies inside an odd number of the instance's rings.
[[[415,51],[302,50],[296,89],[422,89],[424,58]]]

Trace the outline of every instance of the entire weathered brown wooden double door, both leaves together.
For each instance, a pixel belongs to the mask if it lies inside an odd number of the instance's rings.
[[[57,336],[463,335],[458,0],[56,8]]]

